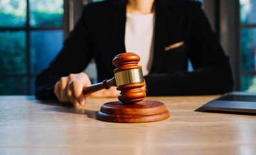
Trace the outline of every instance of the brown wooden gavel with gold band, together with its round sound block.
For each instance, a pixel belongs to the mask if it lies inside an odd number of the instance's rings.
[[[89,85],[84,88],[84,94],[96,92],[103,88],[117,87],[121,90],[119,101],[104,103],[97,113],[101,121],[115,123],[145,123],[161,121],[170,117],[170,112],[164,103],[147,101],[142,67],[138,65],[141,58],[134,53],[123,53],[114,57],[115,77],[106,79],[102,83]]]

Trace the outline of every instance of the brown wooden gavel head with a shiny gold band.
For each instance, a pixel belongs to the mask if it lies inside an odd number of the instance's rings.
[[[122,103],[137,103],[146,97],[142,90],[145,86],[142,67],[138,65],[141,58],[134,53],[123,53],[115,56],[112,63],[117,67],[114,70],[118,96]]]

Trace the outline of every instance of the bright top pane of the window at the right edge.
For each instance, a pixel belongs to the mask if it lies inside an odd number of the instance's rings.
[[[240,0],[240,22],[244,24],[256,24],[256,1]]]

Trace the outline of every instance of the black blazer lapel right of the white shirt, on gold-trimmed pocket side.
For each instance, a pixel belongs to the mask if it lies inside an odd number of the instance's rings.
[[[156,0],[156,23],[154,41],[154,59],[151,68],[152,73],[159,72],[164,58],[164,49],[170,37],[172,19],[172,1]]]

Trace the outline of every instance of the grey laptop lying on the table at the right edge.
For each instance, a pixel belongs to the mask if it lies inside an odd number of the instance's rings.
[[[256,93],[229,92],[202,106],[205,110],[256,113]]]

